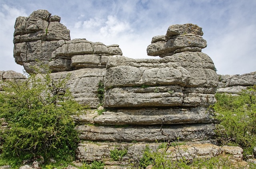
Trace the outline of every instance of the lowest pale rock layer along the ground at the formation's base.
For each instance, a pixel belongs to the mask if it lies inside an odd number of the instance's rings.
[[[174,143],[175,144],[175,143]],[[77,150],[77,157],[80,159],[87,159],[88,161],[98,161],[104,159],[105,163],[108,164],[112,160],[110,157],[110,151],[116,149],[124,150],[127,149],[127,154],[123,157],[123,164],[126,164],[129,159],[134,161],[142,158],[144,149],[147,146],[151,151],[158,151],[162,153],[166,151],[167,157],[171,160],[193,160],[195,158],[211,158],[218,155],[231,155],[233,159],[242,161],[243,149],[240,147],[223,146],[219,147],[210,143],[187,143],[187,145],[176,145],[171,146],[167,150],[159,149],[161,143],[80,143]],[[130,161],[131,162],[131,161]],[[120,164],[120,163],[117,163]]]

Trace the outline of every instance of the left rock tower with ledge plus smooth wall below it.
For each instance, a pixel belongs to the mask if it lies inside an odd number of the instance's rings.
[[[47,10],[18,17],[14,28],[16,63],[27,73],[50,70],[56,79],[70,75],[67,87],[74,98],[90,108],[98,106],[98,83],[105,75],[108,57],[122,55],[119,45],[70,40],[70,31],[60,24],[60,17],[51,16]]]

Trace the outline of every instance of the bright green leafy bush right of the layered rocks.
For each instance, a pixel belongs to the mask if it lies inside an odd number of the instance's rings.
[[[216,126],[218,141],[242,147],[245,155],[252,154],[256,146],[256,87],[243,90],[238,96],[217,93],[215,97],[213,108],[220,121]]]

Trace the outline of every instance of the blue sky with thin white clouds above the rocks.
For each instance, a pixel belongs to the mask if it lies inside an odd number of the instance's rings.
[[[0,70],[22,72],[13,58],[14,23],[38,9],[60,16],[71,39],[118,44],[135,59],[158,58],[146,48],[170,25],[197,24],[218,74],[256,71],[256,0],[0,0]]]

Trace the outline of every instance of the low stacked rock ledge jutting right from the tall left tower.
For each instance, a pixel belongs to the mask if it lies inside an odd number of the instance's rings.
[[[119,45],[106,46],[86,39],[58,41],[59,47],[52,52],[50,69],[53,72],[72,71],[82,68],[106,68],[108,57],[122,55]]]

